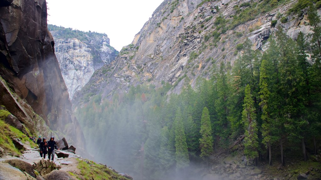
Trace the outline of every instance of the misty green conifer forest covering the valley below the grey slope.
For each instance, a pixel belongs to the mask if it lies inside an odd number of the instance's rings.
[[[180,94],[166,95],[172,86],[165,83],[131,86],[112,100],[93,96],[76,111],[88,151],[148,179],[207,162],[240,136],[254,162],[268,156],[271,165],[275,153],[284,164],[285,148],[307,160],[307,142],[317,154],[321,139],[321,28],[313,6],[308,19],[313,34],[293,40],[278,28],[263,53],[247,39],[233,67],[213,64],[212,77],[198,78],[194,89],[186,77]]]

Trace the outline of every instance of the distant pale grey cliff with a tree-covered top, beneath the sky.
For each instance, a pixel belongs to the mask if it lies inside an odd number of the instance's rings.
[[[95,70],[114,61],[118,54],[109,45],[106,34],[82,32],[55,25],[48,25],[48,29],[55,40],[55,54],[70,99],[88,83]],[[66,35],[67,32],[69,35]]]

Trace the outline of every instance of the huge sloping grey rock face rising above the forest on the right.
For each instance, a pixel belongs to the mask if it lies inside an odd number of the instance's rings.
[[[175,85],[169,93],[178,94],[185,77],[191,79],[194,87],[198,77],[212,76],[214,64],[219,66],[223,61],[233,65],[242,53],[236,45],[246,38],[253,43],[253,49],[264,51],[264,42],[274,35],[275,27],[281,26],[294,39],[299,31],[311,33],[306,12],[301,16],[291,13],[286,16],[289,20],[286,23],[277,15],[287,14],[296,1],[278,4],[248,21],[234,22],[233,16],[250,8],[241,6],[247,2],[165,0],[132,44],[125,46],[114,62],[97,70],[82,91],[74,94],[73,104],[82,105],[88,101],[88,94],[101,94],[102,99],[111,99],[113,92],[126,93],[130,85],[138,84],[154,84],[157,88],[162,86],[161,82],[168,82]],[[275,27],[271,27],[272,20],[277,20]]]

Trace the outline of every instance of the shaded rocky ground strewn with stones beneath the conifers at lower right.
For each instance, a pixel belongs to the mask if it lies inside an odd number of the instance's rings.
[[[310,155],[308,161],[300,160],[300,155],[289,155],[284,166],[278,155],[272,159],[272,166],[268,161],[261,160],[253,163],[242,155],[243,145],[230,150],[229,154],[211,156],[213,166],[203,176],[204,179],[320,179],[320,155]],[[320,153],[320,152],[319,152]],[[293,156],[293,157],[292,157]]]

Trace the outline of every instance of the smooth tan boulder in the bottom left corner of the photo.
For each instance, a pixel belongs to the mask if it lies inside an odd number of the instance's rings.
[[[12,167],[8,163],[0,162],[0,179],[10,179],[10,180],[27,180],[27,177],[15,167]]]

